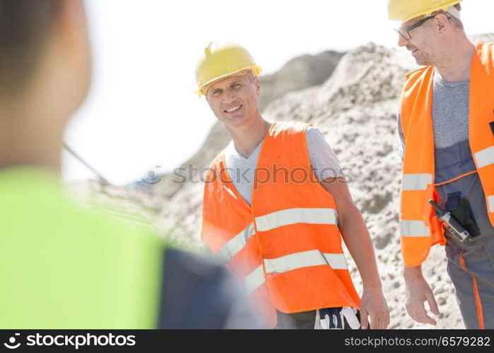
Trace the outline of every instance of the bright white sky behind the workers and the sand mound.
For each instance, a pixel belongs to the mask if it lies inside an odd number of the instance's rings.
[[[273,73],[300,54],[394,46],[387,0],[86,0],[93,86],[66,142],[113,184],[171,171],[200,147],[216,117],[194,68],[211,40],[238,42]],[[465,0],[467,32],[494,32],[493,0]],[[64,179],[93,174],[64,152]],[[156,166],[160,166],[159,168]]]

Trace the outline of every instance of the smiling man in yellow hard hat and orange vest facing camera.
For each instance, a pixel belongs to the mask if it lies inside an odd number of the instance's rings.
[[[368,328],[370,316],[386,328],[374,250],[338,158],[310,124],[261,116],[260,72],[238,44],[211,43],[199,59],[198,92],[233,138],[206,176],[201,237],[271,327]]]

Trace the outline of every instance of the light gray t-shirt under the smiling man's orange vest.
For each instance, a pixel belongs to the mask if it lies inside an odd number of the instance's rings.
[[[317,180],[322,181],[329,177],[345,177],[340,167],[338,157],[331,146],[327,143],[322,133],[314,126],[308,126],[305,134],[307,150],[310,162],[314,168]],[[242,197],[251,203],[252,188],[254,184],[254,172],[259,160],[262,141],[257,145],[254,152],[245,158],[235,150],[233,140],[225,148],[225,163],[230,178],[233,179],[235,189]]]

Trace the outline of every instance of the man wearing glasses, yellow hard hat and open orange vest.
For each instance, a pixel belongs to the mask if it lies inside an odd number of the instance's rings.
[[[401,21],[399,46],[424,65],[406,75],[398,114],[406,309],[436,324],[423,304],[439,314],[421,264],[441,244],[466,328],[494,328],[494,45],[469,41],[460,2],[388,0],[389,18]]]

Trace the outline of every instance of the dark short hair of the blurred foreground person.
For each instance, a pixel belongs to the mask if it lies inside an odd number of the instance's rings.
[[[0,0],[0,97],[25,89],[63,0]]]

